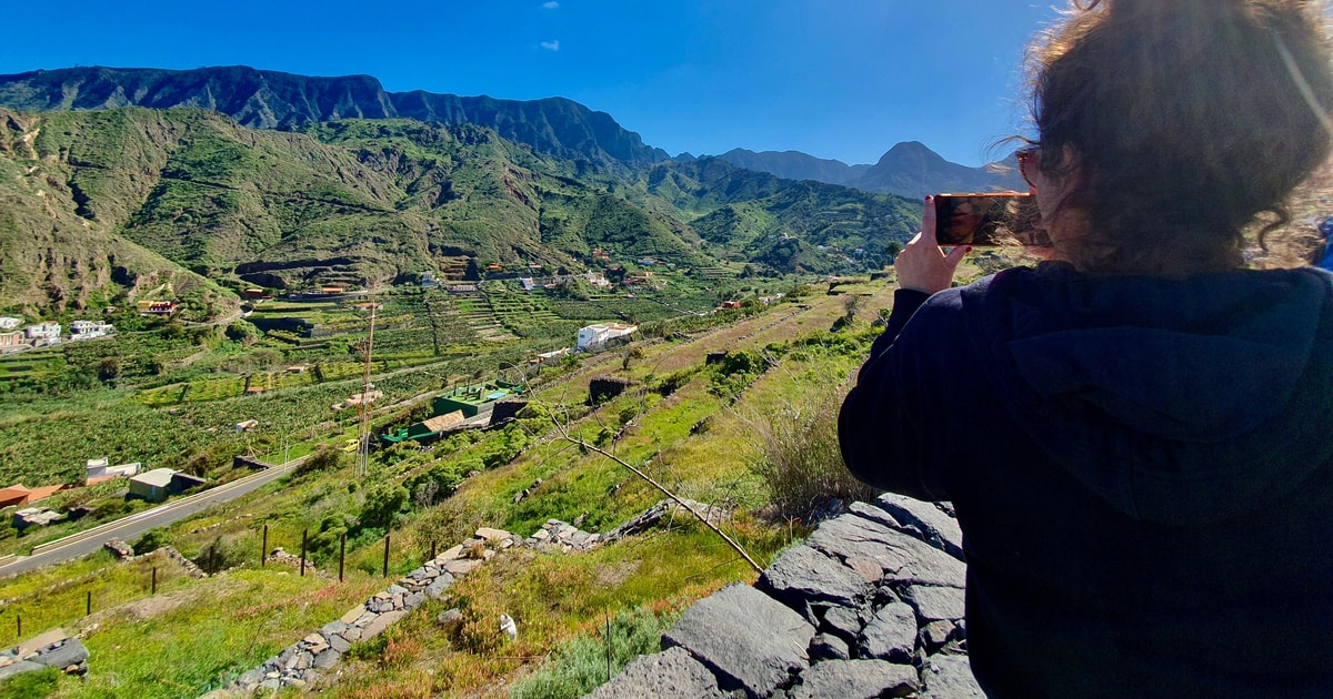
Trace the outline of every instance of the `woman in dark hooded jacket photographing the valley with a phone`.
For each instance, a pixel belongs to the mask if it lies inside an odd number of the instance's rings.
[[[921,234],[840,417],[949,499],[993,696],[1333,696],[1333,276],[1241,229],[1329,153],[1301,0],[1104,0],[1034,52],[1052,261],[950,289]]]

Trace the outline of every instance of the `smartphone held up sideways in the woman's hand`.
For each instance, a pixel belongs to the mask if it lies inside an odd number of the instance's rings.
[[[986,192],[936,194],[934,238],[940,245],[1049,245],[1030,194]]]

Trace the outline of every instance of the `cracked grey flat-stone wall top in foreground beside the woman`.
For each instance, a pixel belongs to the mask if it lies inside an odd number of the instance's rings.
[[[663,652],[589,696],[980,698],[964,573],[948,506],[900,495],[854,503],[753,587],[697,602],[663,635]]]

